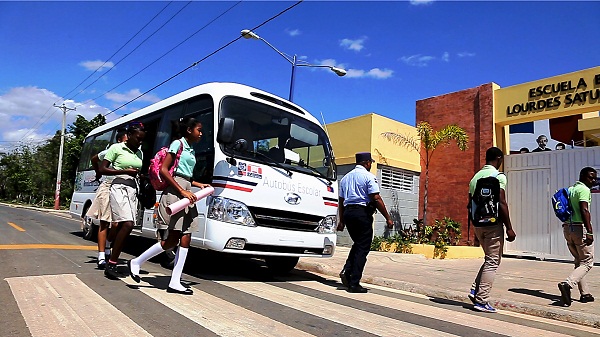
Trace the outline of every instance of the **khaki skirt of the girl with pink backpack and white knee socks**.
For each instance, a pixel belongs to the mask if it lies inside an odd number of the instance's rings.
[[[190,181],[177,176],[173,178],[184,190],[191,192],[192,183]],[[196,204],[191,204],[175,214],[167,214],[167,207],[172,203],[179,201],[180,199],[181,197],[179,196],[179,193],[177,193],[175,188],[172,186],[167,187],[163,191],[158,204],[159,222],[162,222],[161,226],[159,226],[159,229],[181,231],[182,234],[191,234],[193,232],[197,232],[199,226],[198,208],[196,207]]]

